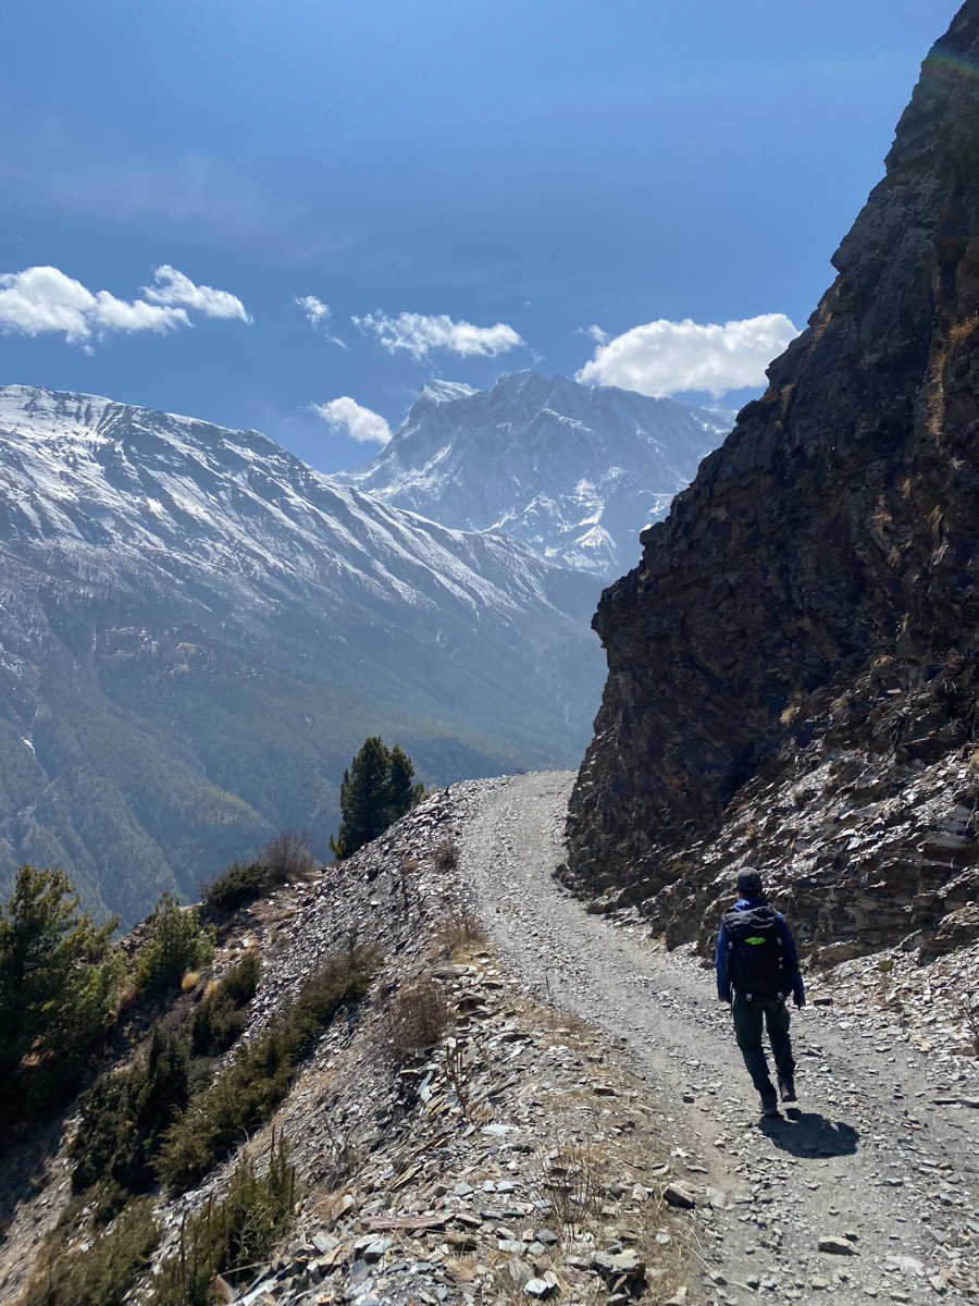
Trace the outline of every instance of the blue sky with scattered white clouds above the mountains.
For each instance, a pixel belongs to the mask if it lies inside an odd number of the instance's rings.
[[[736,406],[956,9],[7,5],[0,383],[258,427],[322,470],[429,376]]]

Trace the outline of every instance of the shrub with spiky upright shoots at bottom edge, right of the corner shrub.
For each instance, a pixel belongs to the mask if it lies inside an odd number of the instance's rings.
[[[209,1200],[184,1220],[176,1254],[155,1276],[151,1306],[209,1306],[214,1276],[262,1260],[285,1232],[295,1198],[288,1148],[282,1136],[273,1135],[264,1175],[258,1177],[251,1157],[243,1157],[226,1198]]]

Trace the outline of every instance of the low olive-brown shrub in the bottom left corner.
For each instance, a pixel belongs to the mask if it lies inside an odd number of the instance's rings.
[[[151,1203],[133,1202],[90,1245],[50,1256],[18,1306],[121,1306],[157,1241]]]

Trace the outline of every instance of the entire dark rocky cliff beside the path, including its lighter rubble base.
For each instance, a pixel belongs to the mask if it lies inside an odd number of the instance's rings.
[[[608,679],[568,874],[675,942],[747,861],[812,938],[838,938],[815,905],[830,883],[873,885],[843,931],[856,951],[935,925],[935,895],[975,867],[978,60],[967,0],[808,330],[595,614]],[[828,848],[824,799],[858,846]],[[939,855],[929,831],[957,811]]]

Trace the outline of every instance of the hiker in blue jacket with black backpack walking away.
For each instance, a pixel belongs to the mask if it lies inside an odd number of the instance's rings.
[[[734,1002],[735,1038],[752,1083],[761,1093],[765,1115],[778,1115],[778,1093],[769,1076],[761,1045],[762,1021],[768,1027],[771,1054],[783,1102],[795,1102],[795,1062],[788,1037],[788,1007],[805,1006],[799,955],[786,918],[769,906],[757,871],[738,876],[738,901],[721,917],[714,953],[717,995]]]

